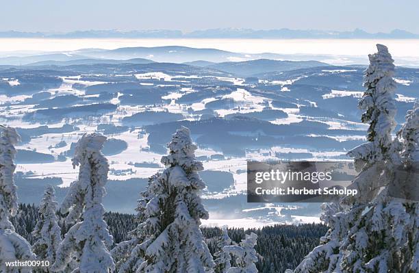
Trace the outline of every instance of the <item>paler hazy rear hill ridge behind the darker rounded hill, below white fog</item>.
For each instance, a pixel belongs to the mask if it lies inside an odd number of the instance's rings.
[[[119,49],[79,49],[77,51],[44,53],[39,55],[0,57],[0,65],[9,66],[69,66],[78,64],[149,64],[151,62],[186,63],[193,66],[210,66],[222,63],[227,71],[234,73],[233,62],[257,59],[286,60],[287,55],[275,53],[245,54],[219,49],[195,49],[192,47],[123,47]],[[301,61],[312,61],[316,56],[300,56]],[[307,60],[308,59],[308,60]],[[232,62],[233,61],[233,62]],[[315,60],[317,61],[317,60]],[[275,66],[278,63],[265,61],[264,65]],[[240,64],[237,64],[240,65]],[[285,63],[281,64],[284,66]],[[293,66],[292,62],[287,63]],[[296,64],[294,64],[296,65]],[[309,66],[313,66],[310,64]],[[217,69],[217,68],[216,68]],[[275,69],[274,69],[275,70]],[[270,70],[272,71],[272,70]]]

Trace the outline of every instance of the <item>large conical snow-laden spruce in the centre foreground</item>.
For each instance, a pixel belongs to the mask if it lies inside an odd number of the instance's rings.
[[[162,157],[164,172],[149,181],[138,202],[140,223],[132,233],[138,244],[132,248],[120,272],[213,272],[215,266],[199,226],[208,213],[199,197],[205,183],[198,171],[190,131],[181,127],[168,144],[169,154]],[[125,248],[125,250],[127,250]]]

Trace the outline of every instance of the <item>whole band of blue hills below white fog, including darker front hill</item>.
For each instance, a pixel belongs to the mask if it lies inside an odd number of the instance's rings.
[[[223,70],[232,74],[240,71],[246,76],[246,66],[251,66],[249,75],[270,71],[286,71],[298,68],[324,66],[325,64],[368,64],[365,56],[239,53],[220,49],[197,49],[192,47],[122,47],[118,49],[79,49],[41,53],[8,52],[0,56],[0,67],[10,66],[72,66],[97,64],[188,64]],[[262,59],[262,60],[261,60]],[[249,63],[248,63],[249,61]],[[294,62],[298,61],[298,62]],[[254,62],[254,63],[252,63]],[[419,60],[398,58],[398,66],[418,67]],[[262,70],[257,71],[260,67]],[[244,73],[244,74],[243,74]]]

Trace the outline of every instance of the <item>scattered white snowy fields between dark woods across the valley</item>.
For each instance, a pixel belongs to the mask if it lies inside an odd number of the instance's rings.
[[[353,70],[324,70],[323,73],[347,73],[352,72]],[[86,80],[86,76],[71,76],[71,77],[61,77],[63,82],[59,88],[51,88],[47,90],[53,96],[63,95],[63,94],[73,94],[75,96],[85,97],[86,99],[92,98],[98,95],[88,95],[86,96],[84,90],[79,90],[74,88],[73,84],[78,83],[83,86],[93,86],[101,83],[107,83],[107,81],[97,81]],[[97,76],[97,75],[92,75]],[[179,76],[179,75],[168,75],[167,73],[162,72],[151,72],[151,73],[142,73],[142,74],[133,74],[133,75],[116,75],[118,77],[135,77],[141,84],[153,86],[154,83],[150,83],[150,79],[159,81],[159,86],[173,86],[173,79],[176,78],[176,81],[188,82],[188,79],[201,79],[205,76],[197,75],[188,75],[188,76]],[[283,81],[259,81],[262,84],[268,86],[275,86],[279,93],[290,92],[286,85],[292,85],[295,81],[303,78],[305,76],[298,77],[296,79],[288,79]],[[82,79],[84,78],[84,79]],[[118,105],[118,108],[115,112],[109,114],[103,114],[101,116],[90,117],[81,117],[81,118],[67,118],[60,121],[48,122],[48,127],[62,127],[68,122],[71,122],[73,125],[79,127],[78,131],[70,133],[46,133],[40,135],[36,138],[31,138],[29,143],[21,144],[17,146],[18,149],[30,149],[32,151],[37,151],[38,153],[45,153],[47,155],[53,155],[55,159],[61,153],[68,151],[71,147],[71,143],[77,142],[83,133],[90,133],[97,130],[97,125],[102,123],[108,123],[113,125],[123,125],[121,119],[125,116],[131,116],[136,113],[144,111],[155,111],[155,112],[168,112],[183,114],[187,120],[196,119],[190,112],[188,108],[192,108],[194,111],[199,111],[205,109],[205,105],[212,101],[229,99],[233,100],[236,103],[240,104],[240,109],[231,108],[231,109],[216,109],[215,112],[218,116],[223,117],[227,114],[245,114],[249,112],[260,112],[266,105],[269,105],[270,109],[279,109],[288,114],[287,118],[277,118],[276,120],[271,120],[270,122],[275,125],[290,125],[298,124],[303,120],[312,120],[316,122],[323,122],[329,126],[331,129],[350,129],[350,130],[359,130],[359,134],[353,135],[333,135],[331,138],[338,140],[339,142],[346,140],[365,140],[364,131],[367,126],[360,122],[353,122],[344,120],[344,118],[322,118],[322,117],[312,117],[312,116],[303,116],[300,113],[301,105],[296,104],[294,108],[281,108],[281,107],[272,107],[272,99],[266,98],[259,94],[252,94],[246,90],[246,83],[244,79],[238,77],[216,77],[220,81],[229,81],[233,83],[235,89],[232,90],[229,94],[223,94],[220,96],[207,97],[201,101],[197,101],[191,104],[179,104],[176,102],[177,99],[180,99],[186,94],[196,92],[193,86],[183,87],[183,88],[173,88],[172,92],[162,96],[164,100],[170,100],[170,103],[161,104],[161,105]],[[10,86],[18,86],[21,84],[18,79],[3,79],[7,80]],[[411,81],[396,79],[396,81],[404,86],[409,86]],[[345,97],[352,96],[359,98],[362,92],[353,91],[353,90],[333,90],[331,89],[329,94],[323,95],[323,99],[332,99],[336,97]],[[120,96],[112,98],[110,103],[118,104],[120,103]],[[45,125],[42,122],[27,122],[22,120],[22,117],[27,114],[34,112],[36,110],[35,105],[12,105],[6,106],[7,103],[16,103],[19,101],[24,101],[25,99],[30,98],[28,95],[18,95],[18,96],[4,96],[0,95],[1,104],[0,109],[3,116],[14,116],[14,120],[8,120],[8,125],[21,128],[34,128],[41,125]],[[403,96],[401,94],[397,95],[398,101],[409,102],[415,100],[410,96]],[[307,103],[307,101],[305,102]],[[310,104],[316,106],[315,102]],[[0,117],[1,121],[1,117]],[[241,132],[240,132],[241,133]],[[193,134],[193,132],[192,132]],[[249,134],[249,132],[242,132],[243,135]],[[307,136],[322,136],[307,133]],[[329,135],[325,135],[329,136]],[[163,168],[160,164],[160,158],[162,154],[155,153],[150,151],[149,143],[147,142],[148,134],[145,133],[141,127],[136,127],[135,129],[129,129],[123,133],[115,133],[113,135],[108,135],[109,138],[116,138],[118,140],[124,140],[127,142],[127,149],[118,153],[116,155],[107,156],[107,159],[110,162],[111,172],[109,173],[109,179],[125,181],[131,178],[148,178],[152,174],[155,174],[158,170]],[[329,136],[330,137],[330,136]],[[55,148],[55,145],[65,141],[65,146],[60,146]],[[312,158],[307,159],[327,159],[331,157],[338,157],[344,155],[346,151],[313,151],[308,148],[293,148],[290,146],[272,146],[270,148],[257,148],[257,149],[248,149],[244,156],[241,157],[225,157],[225,159],[217,160],[207,160],[203,161],[203,166],[205,170],[218,170],[223,172],[230,172],[233,176],[234,184],[233,187],[225,189],[224,192],[214,192],[207,193],[204,198],[223,198],[229,196],[230,194],[238,194],[246,192],[246,163],[249,160],[257,161],[269,161],[277,159],[274,157],[275,153],[310,153]],[[196,151],[196,156],[207,156],[220,154],[220,151],[216,151],[214,148],[200,147]],[[154,164],[153,168],[144,168],[136,167],[134,163],[148,163]],[[155,165],[157,164],[157,165]],[[159,167],[157,167],[159,166]],[[32,178],[45,178],[45,177],[60,177],[62,178],[62,186],[68,186],[72,181],[77,179],[78,171],[73,169],[71,164],[71,159],[67,158],[66,161],[55,160],[51,163],[42,163],[42,164],[18,164],[17,171],[19,172],[31,172],[30,177]],[[249,212],[249,211],[243,211]],[[277,216],[281,216],[280,211]],[[216,214],[212,214],[209,220],[203,220],[203,225],[205,226],[223,226],[225,224],[229,226],[236,227],[260,227],[265,225],[280,224],[280,223],[304,223],[304,222],[319,222],[318,217],[310,216],[290,216],[289,218],[284,218],[278,220],[277,218],[240,218],[240,219],[226,219],[220,218]]]

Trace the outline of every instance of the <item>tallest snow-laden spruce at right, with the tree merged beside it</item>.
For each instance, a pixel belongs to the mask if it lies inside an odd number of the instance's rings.
[[[382,45],[377,48],[379,53],[370,55],[368,90],[360,103],[361,107],[370,105],[363,108],[367,110],[363,120],[366,116],[374,117],[368,118],[370,142],[349,153],[361,168],[351,185],[360,194],[356,199],[343,198],[340,204],[324,205],[322,220],[330,229],[320,239],[320,246],[305,257],[295,272],[419,271],[418,203],[389,194],[396,170],[403,162],[407,166],[407,159],[412,164],[418,153],[418,110],[416,107],[408,112],[405,126],[392,141],[394,103],[389,90],[394,90],[394,83],[389,77],[394,66],[387,48]],[[414,177],[418,185],[417,173],[410,177]]]

